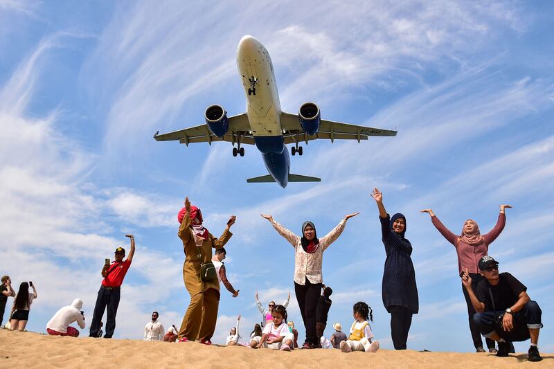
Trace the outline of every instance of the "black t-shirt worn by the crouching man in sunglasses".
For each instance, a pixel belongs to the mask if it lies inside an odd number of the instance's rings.
[[[491,285],[486,279],[481,280],[477,285],[475,296],[485,304],[485,312],[506,310],[519,300],[521,292],[527,291],[527,287],[510,273],[500,273],[499,278],[496,286]],[[490,299],[489,289],[494,298],[494,304]]]

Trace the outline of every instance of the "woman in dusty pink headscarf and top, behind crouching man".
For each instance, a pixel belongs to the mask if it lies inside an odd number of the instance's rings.
[[[477,264],[479,260],[485,255],[488,255],[489,245],[497,239],[500,235],[504,226],[506,225],[506,215],[504,214],[506,208],[511,208],[510,205],[501,205],[500,214],[498,216],[497,225],[492,228],[489,233],[481,235],[479,231],[479,226],[473,219],[467,219],[462,227],[461,235],[455,235],[444,226],[443,223],[438,220],[435,213],[431,209],[421,210],[421,213],[429,213],[431,215],[431,222],[438,229],[441,235],[443,235],[448,242],[454,245],[456,248],[456,254],[458,254],[458,273],[462,271],[469,271],[470,276],[472,277],[472,285],[474,289],[477,288],[479,281],[484,279],[481,274],[479,274],[479,268]],[[477,352],[485,352],[483,349],[483,341],[481,341],[481,334],[479,330],[473,323],[473,316],[475,314],[475,309],[473,308],[470,296],[467,294],[467,291],[462,286],[463,296],[465,297],[465,303],[467,305],[467,314],[470,321],[470,331],[472,333],[473,344],[475,345],[475,350]],[[486,339],[487,347],[489,352],[497,352],[494,348],[494,341],[492,339]]]

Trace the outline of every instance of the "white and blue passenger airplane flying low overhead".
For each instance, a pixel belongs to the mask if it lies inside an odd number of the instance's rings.
[[[289,182],[319,182],[317,177],[290,173],[290,158],[287,144],[294,144],[291,154],[303,154],[304,141],[316,139],[367,140],[368,136],[396,136],[397,131],[351,125],[321,119],[319,107],[314,102],[305,102],[298,114],[281,111],[277,84],[271,57],[267,49],[251,35],[240,39],[237,48],[237,67],[247,111],[227,116],[221,105],[211,105],[204,112],[206,124],[179,131],[159,134],[156,141],[190,143],[226,141],[233,145],[233,156],[244,156],[242,145],[256,145],[262,153],[268,175],[247,179],[248,183],[277,182],[287,187]],[[235,147],[236,144],[236,147]]]

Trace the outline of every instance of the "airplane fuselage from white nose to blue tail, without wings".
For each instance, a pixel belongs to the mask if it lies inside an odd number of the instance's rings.
[[[237,67],[256,147],[262,152],[271,177],[284,188],[288,183],[290,159],[280,125],[281,107],[271,57],[261,42],[247,35],[238,44]]]

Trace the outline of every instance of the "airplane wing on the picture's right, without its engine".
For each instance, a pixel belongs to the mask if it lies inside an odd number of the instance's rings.
[[[321,119],[319,125],[319,131],[308,136],[305,134],[298,119],[298,114],[281,114],[281,128],[286,131],[285,143],[295,143],[298,141],[311,141],[317,139],[328,139],[333,142],[334,140],[367,140],[368,136],[396,136],[397,131],[391,131],[389,129],[380,129],[373,127],[366,127],[364,125],[351,125],[349,123],[334,122],[332,120]]]

